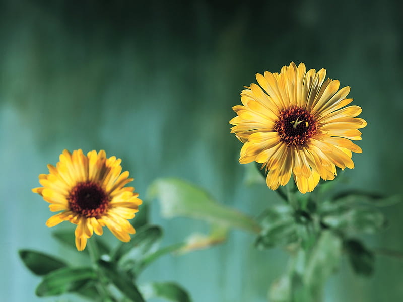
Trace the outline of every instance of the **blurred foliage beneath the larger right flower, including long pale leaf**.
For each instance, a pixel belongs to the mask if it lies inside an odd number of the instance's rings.
[[[265,177],[264,171],[262,174]],[[381,228],[384,215],[375,205],[393,205],[401,198],[385,202],[390,198],[365,191],[342,191],[333,196],[331,188],[324,186],[319,194],[304,195],[288,184],[287,193],[277,191],[286,204],[263,211],[257,219],[260,228],[251,229],[253,220],[244,218],[247,224],[243,229],[258,233],[257,248],[285,247],[290,252],[287,273],[272,284],[270,301],[322,301],[324,285],[339,269],[344,250],[357,274],[369,276],[373,272],[373,252],[360,240],[347,238]],[[219,206],[205,191],[184,181],[159,179],[151,185],[149,196],[157,196],[162,214],[168,218],[185,216],[239,228],[233,210]],[[373,200],[377,202],[371,203]],[[203,244],[206,238],[201,237],[198,245],[208,247],[211,243]]]

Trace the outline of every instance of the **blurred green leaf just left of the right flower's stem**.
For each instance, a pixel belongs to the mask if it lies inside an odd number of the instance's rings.
[[[256,238],[257,248],[273,248],[298,240],[297,223],[291,207],[274,206],[265,210],[258,220],[262,231]]]

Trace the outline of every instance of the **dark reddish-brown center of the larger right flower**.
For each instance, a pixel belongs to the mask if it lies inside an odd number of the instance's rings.
[[[291,107],[280,111],[275,130],[287,146],[304,146],[317,133],[316,119],[306,109]]]

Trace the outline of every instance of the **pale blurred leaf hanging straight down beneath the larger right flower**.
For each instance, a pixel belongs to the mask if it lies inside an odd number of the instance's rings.
[[[341,257],[341,239],[331,231],[323,231],[313,247],[306,264],[304,284],[317,292],[327,278],[335,271]]]

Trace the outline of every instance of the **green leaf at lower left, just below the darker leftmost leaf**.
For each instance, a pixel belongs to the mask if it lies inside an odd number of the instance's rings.
[[[40,297],[59,295],[76,291],[88,281],[96,280],[97,274],[92,268],[63,267],[48,273],[36,288]]]

